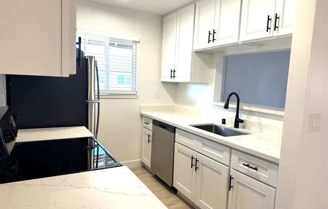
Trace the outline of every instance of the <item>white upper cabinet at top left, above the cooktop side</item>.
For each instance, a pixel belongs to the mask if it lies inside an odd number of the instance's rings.
[[[75,0],[3,0],[0,28],[1,74],[75,73]]]

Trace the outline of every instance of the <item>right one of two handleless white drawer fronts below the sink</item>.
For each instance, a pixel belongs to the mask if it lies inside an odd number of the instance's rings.
[[[199,137],[197,151],[225,165],[230,165],[230,148]]]

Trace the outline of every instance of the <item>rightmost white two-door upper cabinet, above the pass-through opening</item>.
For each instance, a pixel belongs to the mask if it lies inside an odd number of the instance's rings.
[[[296,0],[242,1],[240,41],[292,34]]]

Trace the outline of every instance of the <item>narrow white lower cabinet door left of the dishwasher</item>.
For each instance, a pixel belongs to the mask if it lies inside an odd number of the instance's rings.
[[[150,168],[151,157],[151,131],[142,128],[142,142],[141,142],[141,161]]]

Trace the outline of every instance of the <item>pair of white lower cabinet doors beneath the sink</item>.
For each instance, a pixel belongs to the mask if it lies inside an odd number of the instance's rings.
[[[226,208],[228,167],[179,143],[174,160],[174,187],[200,208]]]

